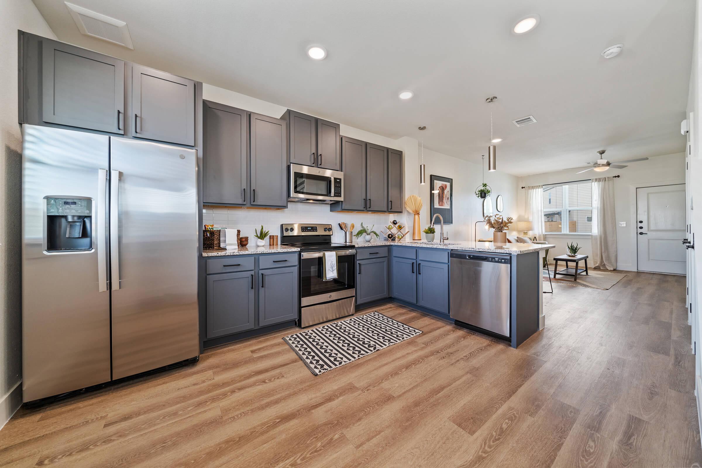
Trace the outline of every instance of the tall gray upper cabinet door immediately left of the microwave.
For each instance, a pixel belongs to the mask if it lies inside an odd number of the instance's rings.
[[[288,206],[286,123],[251,114],[251,205]]]

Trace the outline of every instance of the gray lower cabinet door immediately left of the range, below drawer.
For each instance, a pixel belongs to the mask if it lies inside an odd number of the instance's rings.
[[[298,267],[260,270],[258,326],[298,319]]]

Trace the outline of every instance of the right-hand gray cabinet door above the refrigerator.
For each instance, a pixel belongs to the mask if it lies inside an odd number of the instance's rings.
[[[131,136],[195,144],[195,82],[133,65]]]

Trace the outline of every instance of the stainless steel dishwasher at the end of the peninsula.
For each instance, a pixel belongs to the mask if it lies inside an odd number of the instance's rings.
[[[510,255],[451,250],[451,318],[510,338]]]

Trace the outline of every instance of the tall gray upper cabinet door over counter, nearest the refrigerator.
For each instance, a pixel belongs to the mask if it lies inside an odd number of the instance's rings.
[[[244,205],[249,153],[245,110],[203,102],[204,203]]]

